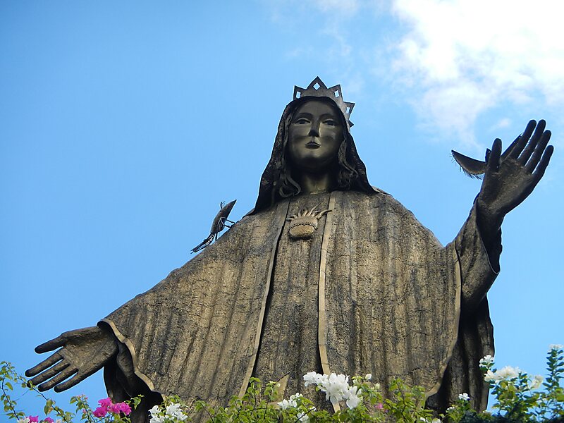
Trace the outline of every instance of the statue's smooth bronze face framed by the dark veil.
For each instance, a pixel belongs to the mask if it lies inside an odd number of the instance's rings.
[[[321,172],[336,161],[343,142],[343,125],[338,111],[317,100],[302,104],[288,128],[288,154],[294,168]]]

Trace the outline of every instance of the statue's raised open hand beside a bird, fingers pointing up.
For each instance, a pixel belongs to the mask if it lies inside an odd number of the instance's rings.
[[[501,225],[503,216],[521,204],[544,175],[553,152],[545,126],[545,121],[530,121],[503,156],[501,140],[494,141],[477,198],[478,212],[489,226]]]

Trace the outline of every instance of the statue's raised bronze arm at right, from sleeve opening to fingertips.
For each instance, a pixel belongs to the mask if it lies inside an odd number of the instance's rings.
[[[491,148],[482,189],[455,243],[462,270],[462,303],[477,306],[499,271],[501,223],[539,183],[553,147],[546,123],[530,121],[525,132],[501,154],[501,140]]]

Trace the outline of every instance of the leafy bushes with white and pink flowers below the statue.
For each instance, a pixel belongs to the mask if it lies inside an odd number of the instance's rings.
[[[486,355],[480,360],[484,381],[489,383],[496,402],[490,412],[476,412],[470,407],[468,393],[460,393],[458,400],[448,407],[444,415],[434,415],[425,408],[425,392],[421,386],[407,386],[394,379],[384,397],[381,386],[371,381],[372,375],[318,374],[303,376],[305,386],[314,386],[325,394],[332,405],[340,410],[317,410],[314,403],[295,393],[281,398],[279,384],[269,382],[262,386],[259,379],[251,379],[245,395],[233,397],[227,407],[218,407],[204,400],[185,403],[178,397],[168,397],[161,405],[149,410],[151,423],[190,422],[204,419],[207,422],[410,422],[410,423],[478,423],[478,422],[564,422],[564,388],[560,380],[564,373],[564,347],[551,345],[547,355],[548,375],[529,376],[518,367],[496,369],[494,357]],[[13,386],[35,391],[45,400],[43,414],[26,415],[11,398]],[[130,402],[113,403],[110,398],[98,401],[92,410],[86,396],[71,398],[75,412],[67,412],[37,391],[8,362],[0,363],[0,400],[5,415],[18,423],[130,423],[130,414],[141,398]],[[52,417],[51,417],[52,416]]]

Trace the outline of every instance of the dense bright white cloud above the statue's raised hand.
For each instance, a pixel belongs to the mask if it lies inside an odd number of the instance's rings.
[[[427,123],[474,144],[476,119],[496,104],[564,103],[564,4],[552,0],[395,0],[407,24],[394,75],[419,88]]]

